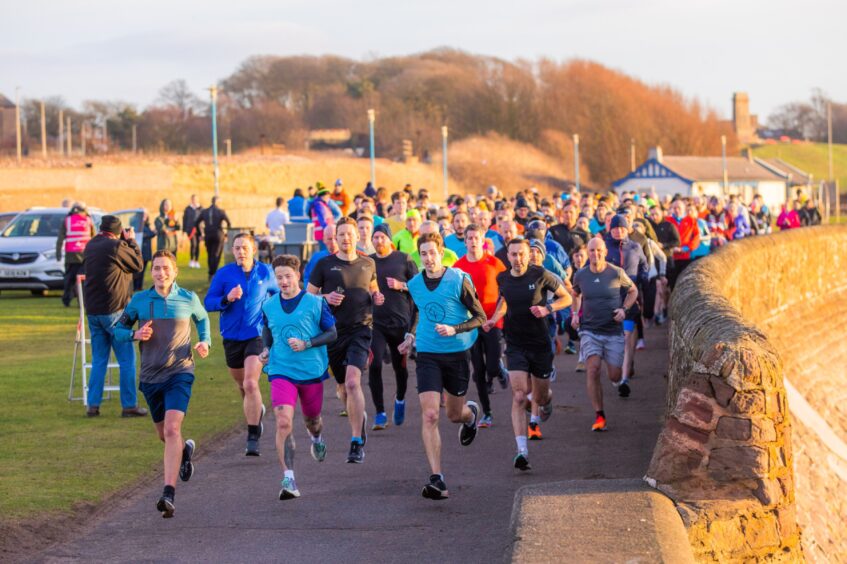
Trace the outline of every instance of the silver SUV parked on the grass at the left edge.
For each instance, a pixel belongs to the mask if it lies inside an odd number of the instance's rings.
[[[0,290],[44,295],[64,285],[64,261],[56,260],[56,239],[69,208],[30,208],[0,233]],[[88,209],[96,226],[103,212]]]

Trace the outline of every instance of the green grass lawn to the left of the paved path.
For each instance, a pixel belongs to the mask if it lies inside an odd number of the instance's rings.
[[[178,281],[201,298],[205,294],[205,270],[183,265]],[[68,401],[79,310],[64,308],[58,295],[0,295],[2,520],[20,521],[69,511],[79,502],[97,502],[161,468],[162,445],[151,420],[121,418],[117,393],[104,399],[99,418],[86,418],[81,401]],[[224,364],[217,314],[211,318],[212,352],[197,361],[183,427],[199,449],[243,421],[241,398]],[[139,403],[145,405],[140,392]]]

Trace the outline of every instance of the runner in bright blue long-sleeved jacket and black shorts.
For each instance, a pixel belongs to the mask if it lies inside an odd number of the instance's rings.
[[[235,262],[212,277],[203,301],[206,311],[221,312],[221,336],[229,374],[241,392],[247,421],[245,456],[259,456],[265,405],[259,389],[262,363],[262,304],[279,292],[271,267],[256,261],[256,243],[249,233],[239,233],[232,242]]]

